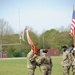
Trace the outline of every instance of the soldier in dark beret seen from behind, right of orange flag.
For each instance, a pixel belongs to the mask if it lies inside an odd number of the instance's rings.
[[[50,56],[47,56],[47,50],[43,50],[42,56],[36,58],[37,64],[40,66],[42,75],[51,75],[52,60]]]

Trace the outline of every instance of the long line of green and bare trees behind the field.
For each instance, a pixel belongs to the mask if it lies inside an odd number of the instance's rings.
[[[38,50],[42,48],[60,50],[63,45],[69,47],[73,44],[73,38],[69,34],[69,29],[64,29],[62,31],[50,29],[44,31],[41,35],[38,35],[32,28],[29,28],[29,34]],[[19,36],[19,34],[14,33],[14,30],[6,21],[0,20],[0,44],[6,44],[2,47],[2,50],[7,52],[9,57],[26,56],[31,49],[27,42],[26,33],[24,35],[25,41],[20,40]],[[21,45],[16,43],[21,43]]]

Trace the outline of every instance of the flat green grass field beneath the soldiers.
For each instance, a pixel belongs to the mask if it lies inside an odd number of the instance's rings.
[[[63,75],[61,60],[61,57],[52,57],[52,75]],[[0,75],[28,75],[26,64],[26,59],[0,60]],[[41,75],[39,67],[35,70],[35,75]]]

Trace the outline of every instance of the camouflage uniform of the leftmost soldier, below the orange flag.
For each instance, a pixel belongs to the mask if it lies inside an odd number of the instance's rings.
[[[34,75],[36,62],[32,51],[30,51],[27,55],[27,68],[28,68],[28,75]]]

